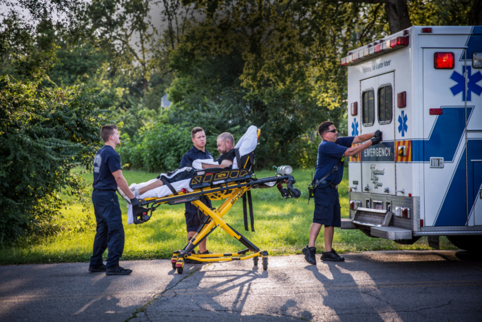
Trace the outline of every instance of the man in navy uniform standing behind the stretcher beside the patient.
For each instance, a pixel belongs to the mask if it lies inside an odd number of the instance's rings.
[[[206,134],[202,128],[196,127],[191,130],[191,140],[193,141],[194,146],[187,151],[186,154],[184,154],[179,168],[184,168],[188,164],[191,166],[193,161],[196,159],[214,159],[213,155],[205,149]],[[209,200],[207,197],[203,196],[199,200],[209,208],[212,208],[211,200]],[[200,215],[198,214],[198,208],[195,205],[189,202],[185,203],[185,207],[187,242],[189,243],[189,238],[196,234],[196,230],[198,230],[199,226],[201,225],[201,221],[199,217]],[[200,254],[207,252],[206,239],[199,244],[199,252]]]

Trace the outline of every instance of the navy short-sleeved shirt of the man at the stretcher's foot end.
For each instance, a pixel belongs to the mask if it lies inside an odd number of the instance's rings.
[[[110,145],[104,145],[97,151],[94,158],[94,183],[92,187],[97,189],[116,190],[116,179],[112,172],[120,170],[121,157]]]

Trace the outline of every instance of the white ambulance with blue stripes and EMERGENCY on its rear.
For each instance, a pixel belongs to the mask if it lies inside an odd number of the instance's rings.
[[[348,135],[383,132],[350,157],[342,228],[434,248],[482,241],[482,27],[414,26],[341,63]]]

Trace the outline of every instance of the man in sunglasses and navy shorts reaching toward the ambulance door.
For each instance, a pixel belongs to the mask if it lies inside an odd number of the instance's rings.
[[[337,130],[333,122],[325,121],[318,126],[318,134],[322,137],[322,143],[318,146],[318,158],[316,163],[315,177],[313,185],[317,185],[315,189],[315,214],[313,215],[313,223],[310,228],[310,241],[305,248],[303,254],[306,261],[315,265],[316,248],[315,242],[319,231],[324,228],[325,251],[322,253],[322,261],[344,261],[333,248],[333,233],[335,227],[342,225],[342,218],[339,206],[339,196],[337,185],[342,182],[344,162],[338,165],[338,170],[331,174],[322,182],[319,182],[326,174],[337,165],[342,157],[352,157],[355,154],[366,150],[371,145],[376,145],[381,141],[381,132],[377,130],[374,133],[362,134],[358,137],[339,137],[337,138]],[[369,141],[367,141],[369,140]],[[352,144],[363,143],[351,148]]]

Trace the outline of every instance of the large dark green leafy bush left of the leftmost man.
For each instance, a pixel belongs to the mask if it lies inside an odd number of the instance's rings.
[[[74,165],[92,167],[105,122],[103,93],[85,86],[41,88],[40,81],[0,77],[0,240],[54,234],[65,203],[87,202]]]

